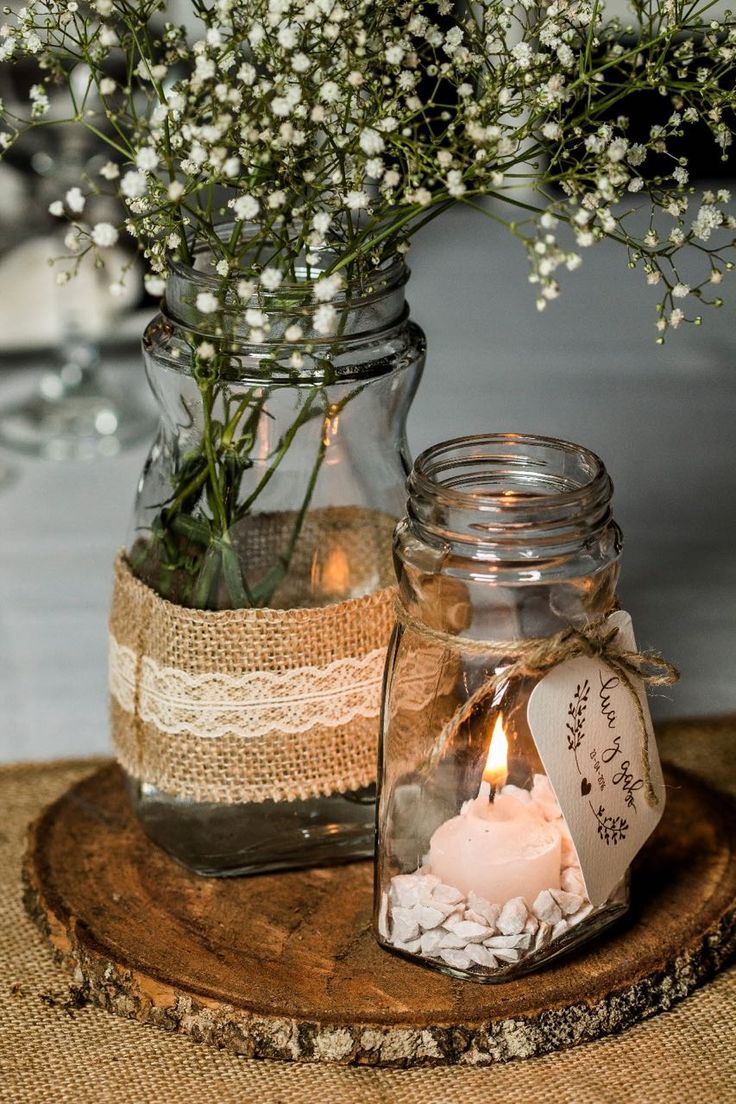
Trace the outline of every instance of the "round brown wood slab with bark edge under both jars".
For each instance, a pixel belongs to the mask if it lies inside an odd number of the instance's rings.
[[[502,985],[381,951],[372,867],[204,879],[143,835],[115,765],[32,826],[30,914],[103,1008],[248,1057],[483,1065],[621,1031],[668,1009],[736,947],[730,800],[670,769],[665,816],[618,927]]]

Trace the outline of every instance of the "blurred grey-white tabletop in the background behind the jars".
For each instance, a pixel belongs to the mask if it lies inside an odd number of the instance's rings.
[[[626,538],[623,604],[640,643],[683,671],[654,713],[736,710],[733,306],[660,348],[641,275],[604,246],[538,315],[519,245],[467,212],[410,262],[413,314],[429,341],[413,448],[516,431],[599,453]],[[120,371],[145,388],[137,363]],[[0,399],[10,382],[0,368]],[[145,454],[89,465],[2,457],[15,478],[0,487],[0,760],[108,749],[111,563]]]

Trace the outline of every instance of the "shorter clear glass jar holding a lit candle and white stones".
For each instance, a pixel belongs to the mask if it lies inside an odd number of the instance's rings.
[[[605,902],[587,899],[527,721],[538,676],[515,661],[524,641],[614,608],[611,491],[593,453],[518,434],[438,445],[409,479],[394,538],[402,611],[383,710],[375,928],[387,949],[456,977],[535,969],[628,905],[626,877]]]

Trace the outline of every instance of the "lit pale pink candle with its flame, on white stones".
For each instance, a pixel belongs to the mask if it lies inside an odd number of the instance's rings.
[[[523,898],[532,906],[542,890],[559,889],[561,837],[554,825],[511,794],[508,740],[498,715],[478,797],[440,825],[429,841],[429,867],[466,896],[491,904]]]

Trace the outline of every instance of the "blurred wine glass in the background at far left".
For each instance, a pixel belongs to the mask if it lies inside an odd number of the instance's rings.
[[[0,82],[3,98],[22,98],[23,77],[15,66],[6,68]],[[71,79],[81,95],[87,71],[78,66]],[[52,97],[50,114],[68,117],[66,89]],[[142,385],[131,386],[118,353],[113,354],[118,363],[105,362],[100,355],[103,341],[115,335],[122,315],[140,295],[139,268],[117,246],[106,251],[109,264],[105,268],[85,258],[79,273],[64,285],[57,283],[58,267],[50,265],[52,257],[68,255],[68,248],[64,230],[49,214],[49,204],[63,199],[85,177],[98,174],[107,160],[105,147],[83,126],[64,124],[30,131],[13,153],[10,168],[22,176],[25,194],[20,220],[8,210],[0,214],[0,221],[9,224],[0,259],[0,298],[7,319],[3,344],[13,351],[45,346],[41,355],[47,364],[40,379],[29,381],[20,394],[3,401],[0,393],[0,445],[49,459],[113,456],[148,436],[154,424]],[[0,203],[8,206],[4,193]],[[109,198],[90,197],[85,219],[116,223],[120,212],[114,204]],[[14,236],[13,247],[9,247],[9,236]],[[110,285],[126,265],[126,279],[114,296]]]

